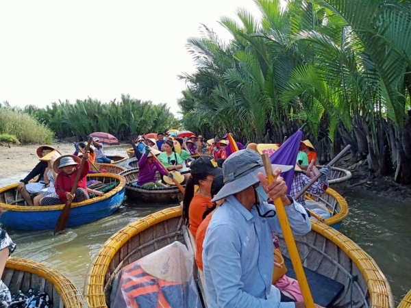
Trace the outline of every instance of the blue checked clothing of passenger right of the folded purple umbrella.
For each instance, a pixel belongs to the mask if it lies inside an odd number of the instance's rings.
[[[301,168],[299,168],[298,165],[295,166],[295,172],[294,172],[294,177],[292,178],[292,185],[291,185],[291,190],[290,190],[290,196],[294,197],[296,196],[300,190],[304,188],[308,183],[310,183],[311,179],[315,177],[315,175],[318,174],[318,172],[322,173],[321,177],[319,178],[319,181],[313,183],[310,188],[308,188],[307,192],[311,192],[312,194],[317,194],[317,195],[322,195],[325,190],[328,188],[328,177],[331,175],[331,167],[329,166],[323,166],[319,171],[318,169],[314,166],[313,167],[313,172],[311,172],[311,177],[308,177],[307,175],[304,175],[302,172]],[[306,207],[306,197],[304,194],[300,196],[297,201],[303,205],[303,207]]]

